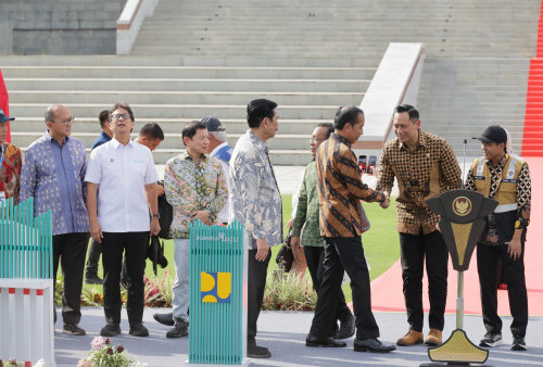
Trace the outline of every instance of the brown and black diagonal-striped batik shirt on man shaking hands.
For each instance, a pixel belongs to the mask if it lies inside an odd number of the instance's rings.
[[[362,172],[351,142],[338,134],[320,144],[316,156],[319,227],[325,237],[362,233],[362,203],[383,202],[384,194],[362,182]]]

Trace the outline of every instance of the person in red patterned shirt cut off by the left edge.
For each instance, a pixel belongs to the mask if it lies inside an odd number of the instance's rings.
[[[7,116],[0,109],[0,203],[13,198],[18,203],[18,188],[21,177],[21,149],[5,141],[8,124],[15,117]]]

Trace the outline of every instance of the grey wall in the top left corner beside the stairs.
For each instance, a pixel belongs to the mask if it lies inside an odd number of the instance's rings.
[[[2,0],[0,54],[114,54],[125,0]]]

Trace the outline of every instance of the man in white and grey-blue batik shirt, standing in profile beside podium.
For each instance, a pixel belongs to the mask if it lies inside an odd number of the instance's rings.
[[[249,130],[239,138],[230,159],[230,219],[244,226],[243,243],[249,248],[247,355],[269,358],[266,347],[256,345],[256,321],[266,287],[272,253],[282,242],[282,202],[269,161],[266,141],[279,126],[277,103],[260,99],[247,106]]]

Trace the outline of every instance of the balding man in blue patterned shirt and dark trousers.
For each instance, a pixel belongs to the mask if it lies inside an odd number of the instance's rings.
[[[47,211],[53,218],[53,279],[62,265],[62,332],[85,336],[77,325],[81,319],[80,296],[89,216],[85,204],[85,145],[71,137],[74,117],[61,105],[46,111],[47,132],[25,153],[21,173],[21,201],[34,197],[34,215]],[[56,314],[54,314],[56,317]]]

